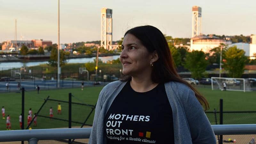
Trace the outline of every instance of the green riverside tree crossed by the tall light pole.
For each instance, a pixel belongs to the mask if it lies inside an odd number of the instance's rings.
[[[69,52],[65,52],[63,50],[60,50],[60,67],[64,66],[67,63],[67,56],[69,56]],[[56,48],[53,48],[51,51],[50,60],[48,61],[48,64],[52,67],[58,66],[58,51]]]

